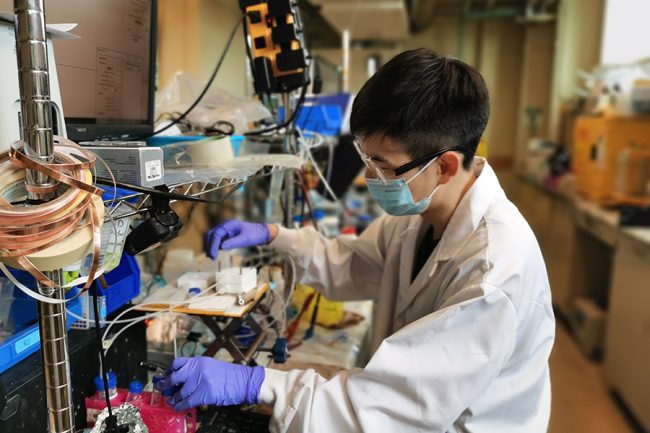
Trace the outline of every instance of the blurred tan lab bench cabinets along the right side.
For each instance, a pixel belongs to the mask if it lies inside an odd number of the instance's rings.
[[[539,239],[556,311],[571,317],[580,298],[602,308],[606,379],[650,431],[650,228],[620,227],[616,211],[524,179],[529,197],[515,200]]]

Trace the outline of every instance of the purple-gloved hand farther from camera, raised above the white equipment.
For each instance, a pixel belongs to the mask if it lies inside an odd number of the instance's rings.
[[[208,232],[205,238],[205,252],[214,260],[220,249],[254,247],[267,244],[270,239],[269,226],[266,224],[230,220]]]

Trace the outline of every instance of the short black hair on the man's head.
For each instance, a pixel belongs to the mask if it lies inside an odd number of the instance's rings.
[[[412,158],[460,147],[469,170],[489,117],[481,74],[420,48],[398,54],[364,84],[352,106],[350,129],[358,138],[384,134]]]

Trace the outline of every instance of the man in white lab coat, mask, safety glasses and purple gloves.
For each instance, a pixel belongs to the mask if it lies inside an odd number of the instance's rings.
[[[325,380],[210,358],[174,361],[177,409],[273,405],[273,432],[526,432],[548,426],[555,324],[530,227],[474,157],[489,117],[471,66],[399,54],[363,86],[351,130],[386,210],[358,238],[229,221],[208,253],[269,243],[334,300],[376,301],[372,358]]]

